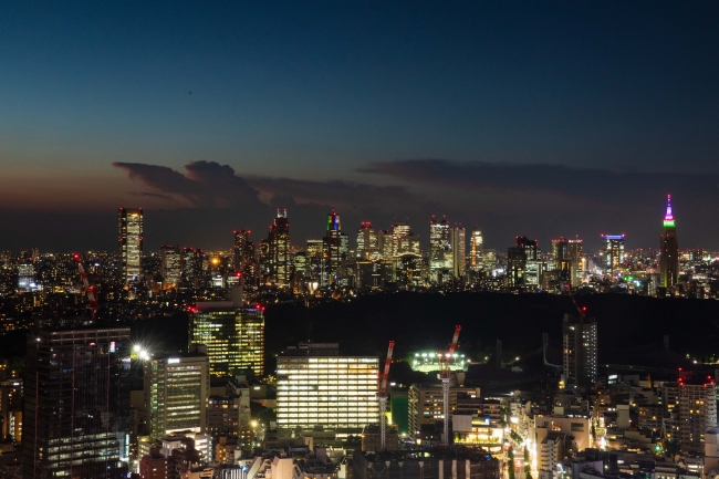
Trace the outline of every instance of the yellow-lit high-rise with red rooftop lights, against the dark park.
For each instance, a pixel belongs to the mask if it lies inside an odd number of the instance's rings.
[[[207,346],[212,376],[243,369],[264,374],[264,311],[241,302],[206,301],[190,306],[190,344]]]

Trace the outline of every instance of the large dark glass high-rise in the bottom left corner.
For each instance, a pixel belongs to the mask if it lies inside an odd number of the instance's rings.
[[[126,477],[129,327],[29,336],[22,478]]]

